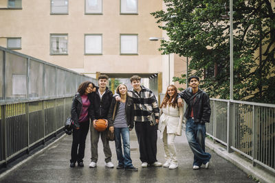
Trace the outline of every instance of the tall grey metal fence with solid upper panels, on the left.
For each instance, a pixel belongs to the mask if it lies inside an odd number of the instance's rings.
[[[0,47],[0,164],[56,136],[83,81],[97,80]]]

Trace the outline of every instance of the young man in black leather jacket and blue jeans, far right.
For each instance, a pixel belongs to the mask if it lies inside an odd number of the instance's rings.
[[[206,125],[210,122],[210,100],[203,90],[199,88],[199,77],[192,75],[188,78],[190,88],[179,93],[187,103],[186,112],[186,138],[194,154],[193,169],[200,169],[201,164],[209,167],[211,155],[205,152]],[[181,99],[179,99],[180,101]]]

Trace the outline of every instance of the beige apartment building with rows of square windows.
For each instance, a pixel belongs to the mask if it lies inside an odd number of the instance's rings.
[[[150,14],[162,8],[161,0],[0,0],[0,46],[92,77],[138,74],[164,93],[186,61],[149,40],[165,38]]]

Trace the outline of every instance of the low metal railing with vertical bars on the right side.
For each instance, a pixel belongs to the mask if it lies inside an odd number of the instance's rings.
[[[275,173],[275,105],[210,99],[212,114],[206,132],[225,145]]]

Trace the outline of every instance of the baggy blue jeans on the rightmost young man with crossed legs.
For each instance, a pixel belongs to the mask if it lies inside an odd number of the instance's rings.
[[[204,123],[194,123],[193,119],[186,122],[186,138],[194,154],[193,166],[201,167],[211,158],[211,154],[205,152],[206,125]]]

